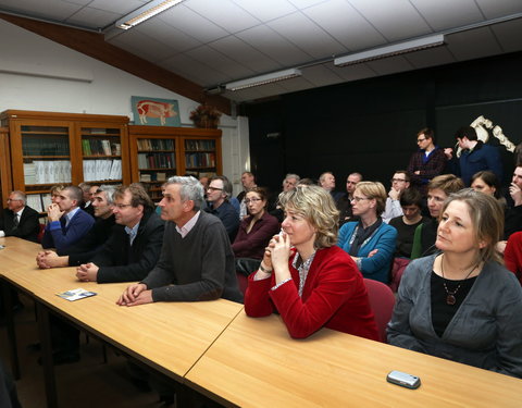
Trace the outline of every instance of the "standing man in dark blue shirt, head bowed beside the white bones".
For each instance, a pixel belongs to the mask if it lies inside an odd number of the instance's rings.
[[[457,163],[457,159],[453,158],[453,149],[447,148],[444,152],[450,160],[448,165],[451,173],[460,176],[465,186],[470,186],[473,174],[483,170],[489,170],[496,174],[498,180],[502,180],[502,161],[498,149],[478,140],[474,127],[461,127],[455,137],[462,149],[459,162]]]

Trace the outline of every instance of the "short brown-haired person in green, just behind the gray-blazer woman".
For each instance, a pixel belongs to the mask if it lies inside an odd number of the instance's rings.
[[[446,200],[451,193],[456,193],[462,188],[464,188],[464,183],[453,174],[438,175],[428,183],[427,209],[432,218],[417,227],[415,236],[413,237],[411,259],[425,257],[435,252],[438,218],[444,200]]]

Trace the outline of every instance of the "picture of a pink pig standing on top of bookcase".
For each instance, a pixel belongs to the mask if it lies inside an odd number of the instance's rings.
[[[149,126],[181,126],[179,107],[175,99],[130,97],[134,124]]]

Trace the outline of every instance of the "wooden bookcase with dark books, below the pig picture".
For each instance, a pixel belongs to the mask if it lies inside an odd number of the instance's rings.
[[[148,186],[158,201],[161,185],[173,175],[222,174],[221,135],[219,129],[130,125],[130,178]]]

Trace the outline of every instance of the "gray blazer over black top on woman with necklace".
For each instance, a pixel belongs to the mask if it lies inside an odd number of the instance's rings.
[[[522,288],[512,272],[487,262],[439,337],[432,324],[435,256],[405,271],[388,323],[389,344],[522,378]]]

